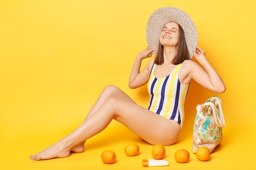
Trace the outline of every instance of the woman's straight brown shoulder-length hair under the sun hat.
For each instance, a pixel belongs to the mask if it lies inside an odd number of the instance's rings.
[[[189,60],[189,50],[186,45],[184,31],[182,27],[179,25],[179,43],[178,43],[177,55],[173,59],[173,64],[177,65],[184,62],[185,60]],[[157,65],[161,65],[164,63],[164,46],[162,46],[160,41],[159,41],[158,52],[155,57],[154,63]]]

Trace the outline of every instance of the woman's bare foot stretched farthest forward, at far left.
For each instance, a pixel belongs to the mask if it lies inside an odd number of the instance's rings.
[[[69,155],[70,149],[64,148],[60,144],[56,143],[35,155],[30,155],[30,158],[32,160],[40,161],[53,158],[65,158]]]

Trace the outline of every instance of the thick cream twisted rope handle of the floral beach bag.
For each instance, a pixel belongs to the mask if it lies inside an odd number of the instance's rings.
[[[214,117],[214,120],[215,120],[215,123],[218,127],[224,127],[225,126],[225,119],[224,119],[224,115],[222,113],[222,107],[221,107],[221,99],[220,97],[211,97],[211,101],[213,101],[215,99],[215,102],[206,102],[204,103],[203,105],[204,106],[211,106],[212,110],[213,110],[213,117]],[[218,111],[217,111],[217,107],[219,107],[219,110],[220,110],[220,117],[218,115]]]

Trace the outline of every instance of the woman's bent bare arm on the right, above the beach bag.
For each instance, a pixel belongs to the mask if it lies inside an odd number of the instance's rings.
[[[226,87],[224,82],[220,75],[207,61],[204,51],[197,46],[196,50],[193,50],[193,52],[195,59],[204,67],[204,69],[197,63],[189,60],[189,62],[186,63],[189,64],[186,68],[189,68],[190,70],[188,78],[194,79],[196,82],[213,92],[225,92]]]

